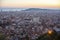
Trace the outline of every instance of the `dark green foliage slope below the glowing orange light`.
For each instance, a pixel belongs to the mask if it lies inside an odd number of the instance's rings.
[[[60,34],[53,31],[53,33],[51,35],[46,33],[44,35],[39,36],[38,39],[36,39],[36,40],[60,40]]]

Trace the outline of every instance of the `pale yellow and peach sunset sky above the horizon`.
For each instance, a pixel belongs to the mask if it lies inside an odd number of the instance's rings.
[[[60,0],[0,0],[0,7],[60,8]]]

